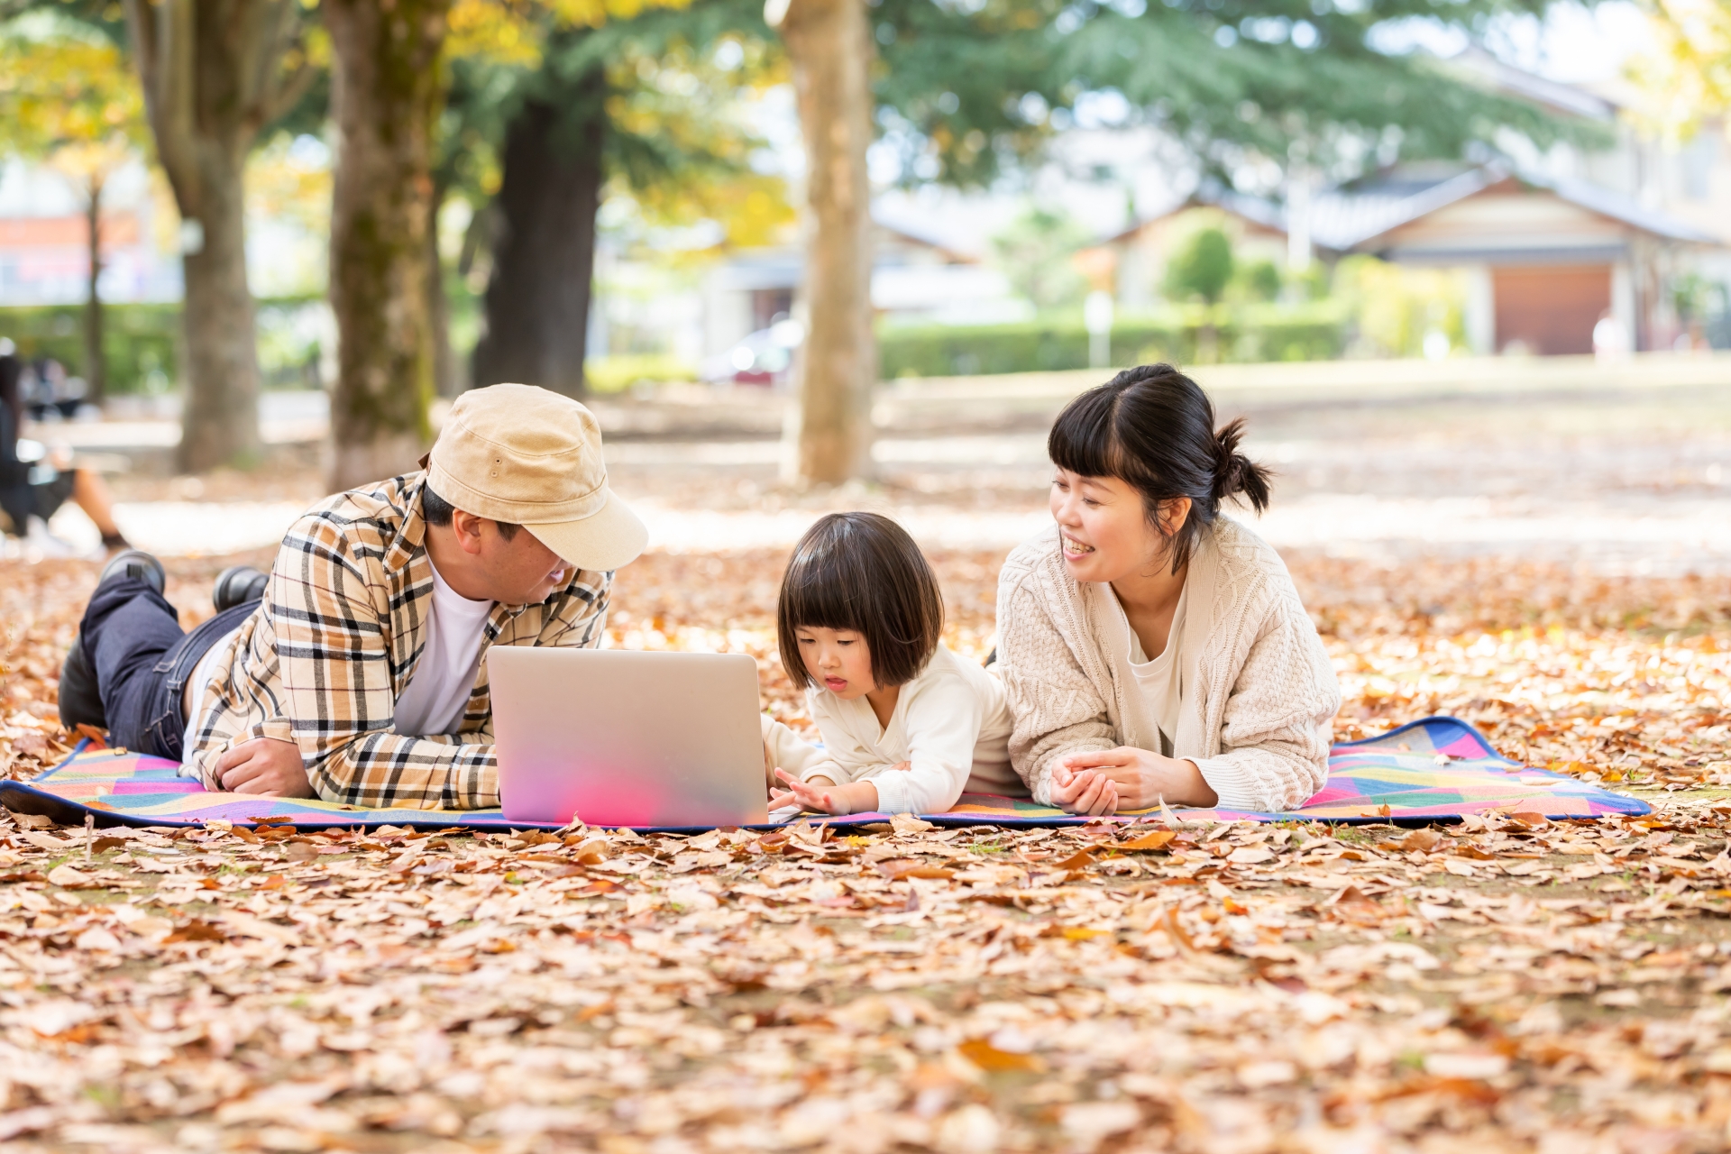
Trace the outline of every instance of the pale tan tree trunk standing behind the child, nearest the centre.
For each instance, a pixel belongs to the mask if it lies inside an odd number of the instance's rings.
[[[781,35],[805,137],[805,279],[796,317],[807,337],[798,381],[798,479],[840,483],[871,467],[872,40],[864,0],[791,0]]]

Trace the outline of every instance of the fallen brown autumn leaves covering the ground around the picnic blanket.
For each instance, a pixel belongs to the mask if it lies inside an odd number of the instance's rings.
[[[933,554],[961,651],[990,644],[999,559]],[[189,623],[227,561],[171,564]],[[646,557],[611,640],[751,652],[798,720],[781,561]],[[1722,1149],[1731,580],[1290,562],[1342,735],[1454,713],[1655,815],[701,837],[0,817],[0,1140]],[[92,581],[0,566],[14,777],[66,747],[54,678]]]

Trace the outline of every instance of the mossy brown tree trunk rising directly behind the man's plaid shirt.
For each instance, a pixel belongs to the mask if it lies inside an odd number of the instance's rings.
[[[431,433],[433,325],[428,230],[438,57],[448,0],[320,5],[336,69],[331,306],[338,382],[331,484],[344,490],[415,467]]]

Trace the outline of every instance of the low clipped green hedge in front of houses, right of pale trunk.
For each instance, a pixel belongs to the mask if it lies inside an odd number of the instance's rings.
[[[1246,308],[1208,329],[1200,308],[1120,320],[1108,363],[1333,360],[1347,348],[1347,317],[1328,303]],[[1089,334],[1080,320],[895,325],[878,334],[878,356],[885,379],[1087,369]]]

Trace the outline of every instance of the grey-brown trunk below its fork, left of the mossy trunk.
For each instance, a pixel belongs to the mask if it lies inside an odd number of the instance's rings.
[[[258,341],[246,284],[246,152],[201,149],[197,227],[187,237],[187,396],[178,464],[185,472],[258,460]],[[185,209],[182,209],[185,211]]]

